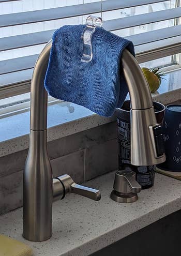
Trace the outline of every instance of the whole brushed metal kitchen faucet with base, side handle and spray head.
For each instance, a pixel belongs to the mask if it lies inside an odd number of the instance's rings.
[[[23,178],[23,237],[40,242],[51,237],[52,202],[67,193],[77,193],[99,200],[96,189],[80,186],[69,175],[52,178],[47,152],[47,105],[44,89],[52,41],[40,53],[34,67],[31,84],[31,125],[29,151]],[[152,96],[135,58],[124,50],[123,70],[131,99],[131,163],[158,164],[165,160],[160,151],[161,135],[153,109]]]

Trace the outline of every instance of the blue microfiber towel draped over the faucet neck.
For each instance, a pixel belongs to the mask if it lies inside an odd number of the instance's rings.
[[[54,98],[109,117],[128,93],[121,58],[125,48],[134,55],[133,43],[98,27],[92,36],[93,59],[84,63],[84,28],[66,25],[55,31],[44,85]]]

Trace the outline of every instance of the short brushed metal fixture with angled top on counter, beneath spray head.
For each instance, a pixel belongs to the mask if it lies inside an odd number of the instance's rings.
[[[111,192],[111,199],[119,203],[133,203],[138,200],[141,191],[140,184],[135,180],[135,172],[117,171],[114,179],[114,190]]]

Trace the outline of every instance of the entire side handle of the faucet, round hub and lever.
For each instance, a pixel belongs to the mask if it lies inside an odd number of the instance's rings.
[[[79,194],[95,201],[101,198],[99,190],[74,183],[73,179],[68,174],[53,179],[53,197],[57,198],[58,191],[62,199],[67,193]],[[62,191],[64,192],[62,193]]]

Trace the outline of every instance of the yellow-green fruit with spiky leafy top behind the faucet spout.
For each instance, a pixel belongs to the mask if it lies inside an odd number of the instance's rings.
[[[159,69],[160,68],[153,68],[152,70],[150,70],[149,68],[142,68],[142,71],[145,75],[150,91],[152,93],[155,93],[160,87],[162,76],[164,76],[164,74],[159,71]]]

